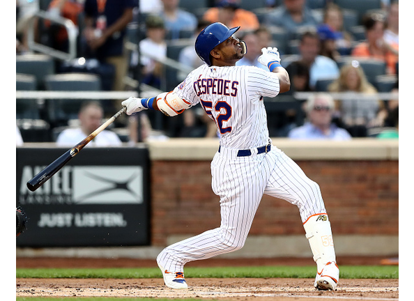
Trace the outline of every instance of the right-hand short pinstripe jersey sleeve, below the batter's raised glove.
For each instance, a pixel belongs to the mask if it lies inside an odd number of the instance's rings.
[[[273,72],[257,67],[248,68],[247,90],[250,99],[256,100],[261,96],[274,98],[280,91],[279,78]]]

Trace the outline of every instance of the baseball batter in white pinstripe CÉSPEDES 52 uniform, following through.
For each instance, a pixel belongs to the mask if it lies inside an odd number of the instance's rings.
[[[243,247],[261,198],[268,194],[298,206],[317,265],[314,286],[335,290],[339,269],[319,185],[273,146],[268,134],[263,97],[289,91],[289,75],[280,65],[276,47],[261,49],[258,59],[270,72],[236,66],[247,52],[245,43],[233,37],[239,28],[210,24],[195,42],[204,65],[190,72],[174,91],[122,102],[128,115],[155,109],[167,116],[200,103],[220,132],[220,147],[211,162],[213,192],[220,196],[220,227],[163,249],[157,263],[164,283],[187,288],[185,263]]]

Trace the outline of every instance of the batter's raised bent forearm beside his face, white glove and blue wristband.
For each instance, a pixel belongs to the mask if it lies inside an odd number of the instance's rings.
[[[291,89],[291,79],[286,69],[280,65],[280,56],[276,47],[263,47],[261,49],[261,56],[259,56],[257,61],[262,65],[268,66],[270,72],[277,74],[280,85],[279,93],[284,93]]]

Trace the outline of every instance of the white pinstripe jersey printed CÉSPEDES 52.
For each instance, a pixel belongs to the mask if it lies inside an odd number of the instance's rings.
[[[263,97],[273,98],[279,93],[275,73],[254,66],[204,64],[174,91],[192,106],[201,103],[217,125],[222,147],[247,149],[268,144]]]

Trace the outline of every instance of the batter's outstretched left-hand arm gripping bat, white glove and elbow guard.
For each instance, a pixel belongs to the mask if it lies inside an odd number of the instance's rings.
[[[121,105],[126,107],[128,115],[144,111],[144,109],[153,109],[162,111],[167,116],[176,116],[192,106],[190,102],[183,100],[174,91],[164,92],[152,98],[130,97],[121,102]]]

